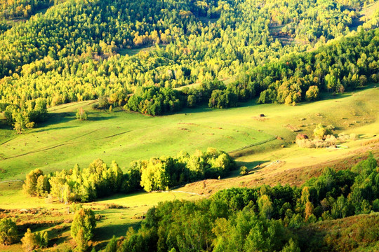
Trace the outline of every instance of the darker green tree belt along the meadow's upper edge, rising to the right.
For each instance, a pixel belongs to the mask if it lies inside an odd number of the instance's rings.
[[[227,108],[255,97],[258,97],[258,103],[296,104],[304,100],[313,101],[319,98],[321,91],[345,92],[361,87],[368,81],[378,82],[378,36],[379,29],[361,31],[357,36],[342,38],[314,52],[284,57],[279,62],[257,66],[228,85],[210,80],[198,87],[185,87],[182,90],[159,85],[131,87],[130,90],[120,86],[117,92],[101,96],[105,97],[102,106],[125,104],[125,109],[161,115],[199,104],[208,104],[211,108]],[[7,85],[2,87],[8,88]],[[49,89],[46,87],[46,92]],[[86,99],[95,99],[93,91],[90,89],[88,92],[92,93]],[[8,95],[7,92],[4,94]],[[0,103],[0,110],[5,111],[8,124],[25,127],[27,123],[37,123],[46,118],[49,102],[51,105],[51,102],[60,104],[84,99],[70,98],[70,94],[73,93],[67,92],[65,98],[57,99],[29,100],[25,97],[20,105],[3,102]]]

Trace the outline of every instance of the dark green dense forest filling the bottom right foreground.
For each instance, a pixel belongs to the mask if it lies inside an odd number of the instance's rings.
[[[297,230],[379,211],[378,197],[378,160],[369,155],[352,169],[326,168],[301,187],[231,188],[207,200],[162,202],[147,211],[138,231],[128,230],[118,249],[111,249],[113,240],[105,251],[328,251]],[[368,228],[361,238],[378,241],[377,232]]]

